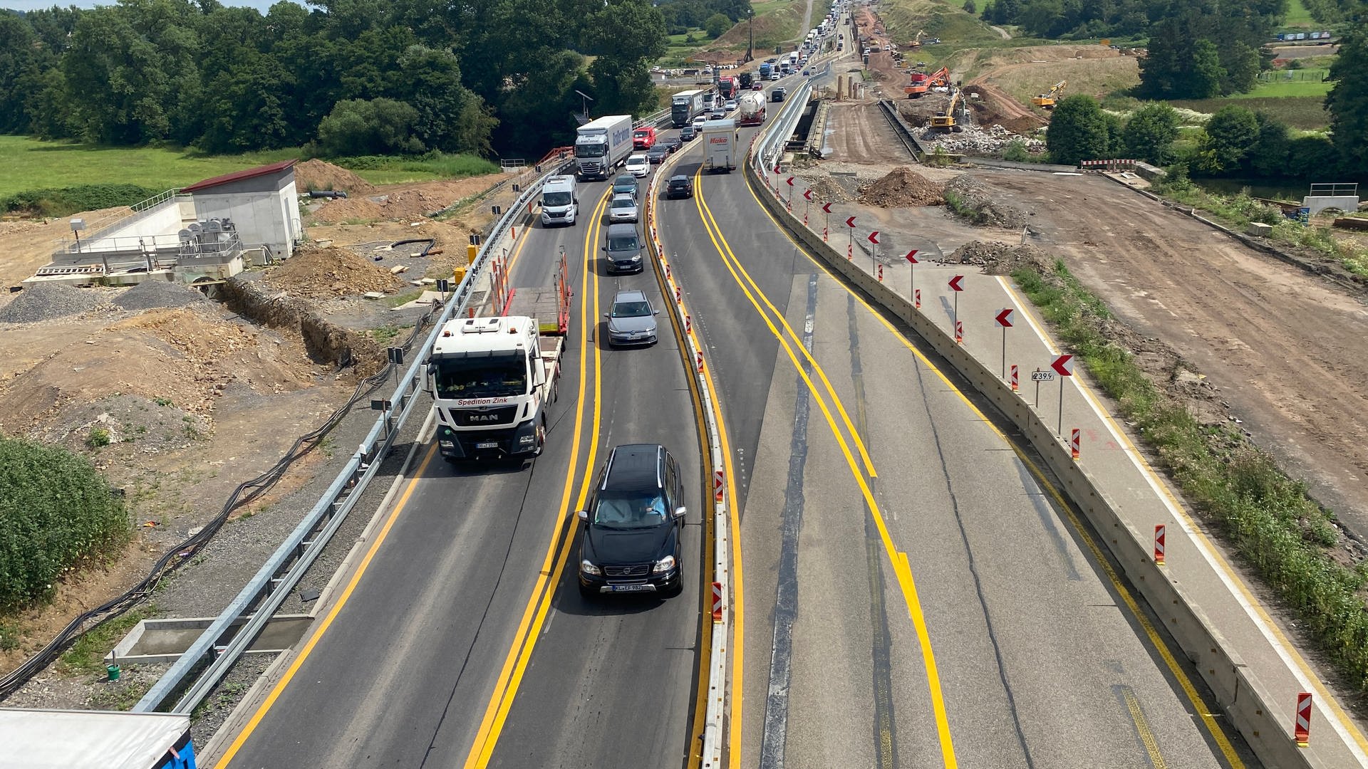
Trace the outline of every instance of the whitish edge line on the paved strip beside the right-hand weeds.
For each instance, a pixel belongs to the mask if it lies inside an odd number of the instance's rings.
[[[1012,301],[1016,304],[1016,307],[1022,309],[1022,315],[1026,317],[1026,322],[1036,331],[1036,335],[1045,343],[1045,348],[1051,353],[1057,354],[1059,348],[1055,346],[1055,341],[1051,339],[1044,330],[1041,330],[1040,324],[1033,317],[1033,312],[1030,311],[1030,302],[1023,302],[1021,297],[1016,294],[1016,291],[1011,287],[1011,283],[1008,283],[1004,278],[999,276],[997,281],[1007,291],[1007,296],[1010,296]],[[1126,445],[1127,454],[1130,454],[1131,460],[1134,461],[1140,472],[1149,479],[1150,487],[1156,488],[1168,501],[1168,509],[1172,510],[1176,514],[1176,517],[1182,519],[1182,521],[1186,524],[1183,530],[1193,539],[1200,542],[1200,547],[1202,547],[1205,553],[1211,556],[1213,565],[1222,572],[1224,572],[1227,577],[1226,583],[1233,586],[1235,590],[1239,591],[1241,595],[1244,595],[1245,598],[1244,605],[1252,609],[1263,621],[1264,628],[1267,628],[1268,632],[1271,632],[1274,638],[1278,639],[1278,643],[1282,644],[1283,650],[1287,653],[1286,660],[1290,660],[1294,665],[1297,665],[1297,668],[1301,669],[1302,677],[1305,679],[1305,681],[1302,683],[1309,683],[1311,688],[1315,690],[1317,695],[1317,705],[1323,703],[1327,709],[1330,709],[1330,712],[1335,716],[1335,720],[1339,722],[1339,725],[1349,732],[1349,738],[1353,739],[1356,743],[1358,743],[1361,751],[1368,753],[1368,739],[1364,738],[1363,731],[1360,731],[1358,725],[1343,712],[1343,709],[1339,707],[1339,701],[1330,692],[1330,690],[1327,690],[1320,683],[1320,676],[1311,669],[1311,665],[1308,665],[1306,660],[1301,655],[1300,651],[1297,651],[1297,647],[1293,646],[1290,640],[1287,640],[1287,636],[1283,635],[1282,628],[1278,627],[1278,624],[1272,620],[1268,612],[1264,610],[1263,603],[1260,603],[1259,599],[1254,598],[1253,592],[1249,591],[1249,586],[1245,584],[1245,580],[1239,576],[1239,573],[1235,572],[1234,568],[1231,568],[1230,562],[1220,553],[1220,550],[1215,547],[1215,545],[1211,542],[1207,534],[1200,527],[1197,527],[1197,524],[1193,523],[1192,517],[1187,514],[1187,508],[1185,508],[1182,502],[1179,502],[1174,497],[1174,493],[1168,488],[1168,484],[1164,483],[1164,479],[1155,472],[1155,468],[1150,467],[1149,460],[1145,458],[1145,454],[1142,454],[1140,449],[1135,447],[1135,443],[1130,439],[1130,435],[1124,430],[1122,430],[1119,424],[1116,424],[1116,419],[1111,415],[1111,412],[1103,408],[1097,395],[1092,391],[1092,387],[1089,387],[1082,378],[1078,378],[1074,382],[1074,384],[1078,387],[1083,398],[1089,404],[1092,404],[1093,410],[1099,413],[1112,427],[1111,430],[1112,435],[1120,438],[1120,441]]]

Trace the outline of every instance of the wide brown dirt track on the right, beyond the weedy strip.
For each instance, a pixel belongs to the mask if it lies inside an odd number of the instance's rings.
[[[1104,177],[975,172],[1135,331],[1219,387],[1254,441],[1368,538],[1368,307]]]

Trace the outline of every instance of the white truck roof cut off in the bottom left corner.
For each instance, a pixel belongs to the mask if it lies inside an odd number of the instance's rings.
[[[0,769],[148,769],[189,731],[176,713],[0,707]]]

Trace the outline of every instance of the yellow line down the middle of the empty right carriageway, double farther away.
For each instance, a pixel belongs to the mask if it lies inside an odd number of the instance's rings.
[[[769,327],[770,333],[774,335],[776,339],[778,339],[780,345],[784,348],[784,352],[788,354],[789,361],[793,364],[793,369],[798,371],[799,376],[803,378],[803,382],[807,384],[808,390],[813,394],[813,398],[817,401],[817,405],[821,409],[822,416],[826,419],[826,424],[830,428],[832,435],[836,436],[836,441],[841,447],[841,453],[845,456],[845,462],[850,465],[851,475],[859,484],[860,494],[865,498],[865,504],[869,505],[870,514],[874,519],[874,525],[878,530],[880,540],[884,543],[884,550],[888,556],[889,564],[899,576],[897,582],[903,592],[903,599],[907,602],[907,613],[908,617],[912,620],[912,627],[917,631],[917,639],[921,646],[922,664],[926,669],[926,683],[932,698],[932,710],[936,718],[936,733],[937,738],[940,739],[941,761],[944,762],[947,769],[955,769],[959,764],[955,758],[955,746],[949,731],[949,717],[945,712],[945,699],[944,694],[941,692],[940,672],[936,666],[936,657],[932,651],[930,632],[926,628],[926,618],[922,614],[921,598],[918,597],[917,592],[917,583],[912,580],[911,568],[907,564],[907,554],[899,551],[897,546],[893,543],[893,539],[888,532],[888,527],[884,523],[884,516],[880,512],[878,502],[874,499],[874,494],[869,487],[865,473],[860,472],[859,462],[851,453],[851,447],[845,439],[845,435],[836,424],[836,419],[832,415],[830,408],[826,405],[826,398],[822,397],[822,391],[813,382],[811,376],[808,376],[807,372],[803,369],[803,365],[799,361],[799,356],[793,352],[793,348],[792,345],[789,345],[789,341],[785,337],[785,334],[781,333],[774,326],[770,316],[765,312],[765,309],[761,307],[761,302],[755,298],[757,294],[763,296],[763,291],[761,291],[757,287],[755,291],[752,293],[751,289],[747,287],[746,282],[741,281],[740,275],[737,275],[736,267],[733,267],[732,264],[732,261],[736,260],[736,256],[732,253],[729,245],[724,245],[726,244],[726,238],[725,235],[722,235],[721,229],[717,227],[717,222],[715,219],[713,219],[711,209],[707,208],[707,203],[703,200],[702,172],[695,174],[695,178],[696,178],[694,185],[695,205],[699,209],[699,216],[703,219],[703,226],[707,230],[709,239],[713,241],[713,246],[717,249],[717,253],[722,257],[722,263],[726,265],[728,272],[732,274],[732,278],[736,281],[737,286],[740,286],[741,293],[746,294],[747,300],[750,300],[751,305],[755,308],[755,312],[759,313],[759,316],[765,320],[765,324]],[[765,304],[772,309],[774,307],[767,301],[767,298]],[[811,361],[811,359],[808,360]],[[811,364],[814,368],[818,368],[815,361],[811,361]],[[836,402],[840,401],[836,393],[832,393],[832,400]],[[873,475],[873,472],[870,475]]]

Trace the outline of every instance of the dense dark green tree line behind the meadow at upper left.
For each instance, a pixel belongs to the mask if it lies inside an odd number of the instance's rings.
[[[573,137],[576,90],[595,115],[653,109],[648,67],[665,41],[648,0],[0,11],[0,133],[216,153],[535,155]]]

